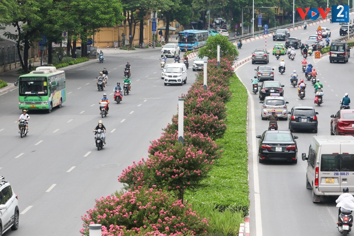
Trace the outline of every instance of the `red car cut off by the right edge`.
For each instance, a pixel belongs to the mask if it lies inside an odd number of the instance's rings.
[[[336,115],[331,115],[331,135],[354,136],[354,110],[339,110]]]

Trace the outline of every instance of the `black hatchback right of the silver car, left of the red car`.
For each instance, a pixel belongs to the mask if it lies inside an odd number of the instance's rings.
[[[317,133],[318,112],[315,112],[313,107],[298,106],[293,107],[291,111],[288,111],[289,117],[289,129],[293,132],[294,129],[312,129]]]

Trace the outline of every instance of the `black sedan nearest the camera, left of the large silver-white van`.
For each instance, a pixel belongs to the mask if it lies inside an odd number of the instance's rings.
[[[268,130],[259,138],[258,161],[262,163],[267,160],[291,161],[297,163],[297,144],[291,132],[285,130]]]

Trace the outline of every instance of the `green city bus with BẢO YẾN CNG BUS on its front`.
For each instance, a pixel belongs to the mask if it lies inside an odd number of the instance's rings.
[[[37,67],[29,74],[19,76],[18,108],[23,110],[45,110],[60,108],[66,100],[65,72],[55,67]]]

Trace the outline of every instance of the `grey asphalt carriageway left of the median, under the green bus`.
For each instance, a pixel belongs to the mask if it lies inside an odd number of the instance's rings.
[[[80,235],[81,215],[93,208],[96,198],[122,187],[117,180],[122,169],[147,157],[149,141],[160,137],[177,113],[178,96],[195,79],[190,68],[187,85],[164,86],[159,53],[107,54],[103,64],[65,71],[66,102],[50,114],[29,111],[24,138],[16,122],[21,115],[17,89],[0,96],[0,175],[18,195],[20,213],[32,206],[20,214],[19,229],[5,236]],[[132,92],[116,104],[111,93],[117,81],[122,83],[127,61],[132,65]],[[103,67],[109,82],[98,92],[95,77]],[[102,119],[98,102],[103,93],[111,104]],[[107,128],[107,144],[97,151],[92,131],[99,120]]]

